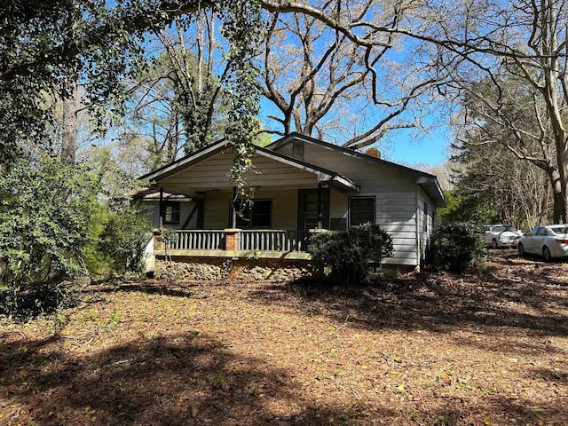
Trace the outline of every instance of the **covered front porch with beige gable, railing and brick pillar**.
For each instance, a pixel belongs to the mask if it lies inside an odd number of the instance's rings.
[[[178,225],[167,247],[156,235],[155,255],[309,259],[310,235],[337,228],[330,206],[341,204],[344,216],[348,195],[359,193],[346,177],[258,148],[248,174],[253,205],[243,208],[226,177],[232,162],[233,147],[216,144],[146,176],[159,191],[183,193],[194,202],[190,217],[177,217],[175,204],[161,197],[160,223],[171,227],[173,219]]]

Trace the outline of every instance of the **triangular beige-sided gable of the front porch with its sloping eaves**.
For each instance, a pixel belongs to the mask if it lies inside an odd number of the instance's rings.
[[[148,185],[193,196],[207,191],[230,191],[233,184],[227,171],[233,165],[233,158],[233,145],[219,141],[140,178]],[[343,192],[359,192],[359,185],[347,177],[262,147],[256,147],[253,165],[248,172],[251,186],[313,188],[324,183]]]

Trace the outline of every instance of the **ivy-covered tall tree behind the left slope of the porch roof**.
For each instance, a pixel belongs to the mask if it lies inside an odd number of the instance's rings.
[[[215,61],[215,22],[212,12],[202,10],[195,12],[193,22],[175,19],[170,31],[155,33],[160,53],[132,82],[124,138],[146,139],[150,169],[221,137],[221,86],[227,67]],[[188,38],[187,31],[194,36]]]

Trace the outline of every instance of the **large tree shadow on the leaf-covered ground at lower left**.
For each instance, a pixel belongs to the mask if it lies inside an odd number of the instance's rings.
[[[305,400],[289,371],[236,358],[214,336],[143,339],[66,359],[66,337],[0,345],[0,424],[319,425],[355,416],[392,416],[389,408]],[[280,410],[279,406],[285,406]],[[293,414],[289,406],[296,406]],[[26,423],[28,422],[28,423]]]

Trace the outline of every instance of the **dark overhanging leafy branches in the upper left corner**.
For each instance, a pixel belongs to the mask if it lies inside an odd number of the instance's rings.
[[[117,2],[121,3],[121,2]],[[140,19],[134,7],[95,0],[12,0],[0,8],[0,164],[9,167],[30,146],[48,146],[53,103],[67,99],[77,78],[102,130],[122,113],[121,76],[140,64]],[[165,22],[165,20],[162,20]]]

